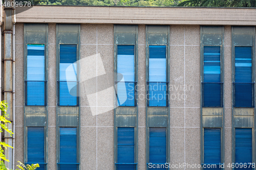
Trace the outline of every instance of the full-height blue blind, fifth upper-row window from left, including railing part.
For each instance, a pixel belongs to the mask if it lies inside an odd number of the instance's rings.
[[[204,46],[203,71],[203,107],[222,107],[220,46]]]

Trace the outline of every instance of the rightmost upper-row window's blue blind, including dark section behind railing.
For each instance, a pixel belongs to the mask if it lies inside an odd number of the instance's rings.
[[[234,107],[253,107],[251,46],[234,47]]]

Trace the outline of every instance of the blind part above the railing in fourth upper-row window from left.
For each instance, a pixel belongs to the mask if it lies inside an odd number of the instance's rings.
[[[166,45],[150,45],[149,57],[149,81],[166,82]]]

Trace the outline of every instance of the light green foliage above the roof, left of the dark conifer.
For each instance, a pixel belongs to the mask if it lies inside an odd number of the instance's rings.
[[[40,5],[177,6],[184,0],[41,0]]]

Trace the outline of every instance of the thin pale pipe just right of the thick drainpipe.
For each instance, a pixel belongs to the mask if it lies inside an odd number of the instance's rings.
[[[13,34],[12,34],[12,169],[15,169],[14,165],[14,153],[15,153],[15,23],[16,23],[16,13],[15,6],[13,10]]]

